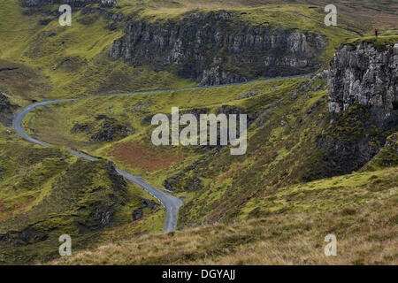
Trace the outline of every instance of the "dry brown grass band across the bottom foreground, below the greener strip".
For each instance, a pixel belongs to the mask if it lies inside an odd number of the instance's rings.
[[[345,218],[279,215],[146,235],[51,264],[398,264],[391,217],[369,209]],[[337,237],[337,256],[324,254],[328,233]]]

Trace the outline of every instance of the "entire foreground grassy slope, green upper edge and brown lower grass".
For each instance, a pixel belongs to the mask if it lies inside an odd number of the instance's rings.
[[[283,187],[232,223],[145,235],[50,264],[397,264],[397,170]],[[325,256],[324,238],[337,238]]]

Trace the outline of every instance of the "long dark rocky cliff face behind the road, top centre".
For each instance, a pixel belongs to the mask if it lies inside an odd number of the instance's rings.
[[[211,11],[164,22],[130,18],[110,57],[215,85],[309,73],[324,48],[321,34],[251,26],[234,12]]]

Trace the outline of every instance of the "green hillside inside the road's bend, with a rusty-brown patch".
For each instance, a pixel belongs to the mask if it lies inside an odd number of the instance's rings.
[[[241,98],[247,94],[256,95]],[[215,113],[223,105],[241,107],[251,117],[246,155],[231,156],[228,148],[151,144],[154,127],[149,126],[148,118],[152,115],[170,114],[172,106],[179,106],[181,111]],[[99,128],[87,109],[96,109],[97,115],[129,126],[134,134],[115,142],[90,141],[90,135]],[[70,111],[75,113],[73,118],[68,115]],[[126,171],[142,174],[151,184],[168,187],[184,196],[178,224],[183,228],[236,218],[254,199],[262,199],[264,195],[278,199],[280,187],[344,174],[346,161],[339,164],[329,160],[317,147],[319,137],[340,136],[341,140],[356,141],[363,135],[385,139],[394,134],[367,128],[359,122],[365,116],[356,115],[353,108],[340,121],[329,125],[325,80],[297,78],[51,105],[30,114],[26,128],[42,141],[62,141],[107,157]],[[348,119],[359,120],[356,126],[347,129]],[[76,123],[92,129],[72,134]],[[377,168],[395,166],[395,156],[392,152],[389,159],[378,157],[390,161],[379,162]]]

